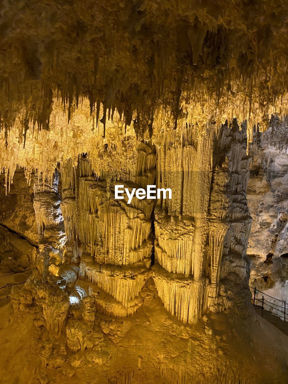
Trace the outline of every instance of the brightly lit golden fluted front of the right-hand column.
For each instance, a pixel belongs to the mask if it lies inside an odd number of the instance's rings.
[[[158,152],[157,188],[171,188],[172,200],[157,200],[154,281],[165,308],[184,323],[195,323],[207,303],[214,136],[214,126],[167,131]]]

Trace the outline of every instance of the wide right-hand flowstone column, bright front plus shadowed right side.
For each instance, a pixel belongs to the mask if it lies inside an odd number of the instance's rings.
[[[234,126],[216,133],[214,125],[166,131],[158,151],[157,188],[171,188],[172,200],[157,200],[153,277],[165,308],[184,323],[228,306],[221,278],[232,249],[247,265],[245,133]],[[247,278],[246,269],[238,274]]]

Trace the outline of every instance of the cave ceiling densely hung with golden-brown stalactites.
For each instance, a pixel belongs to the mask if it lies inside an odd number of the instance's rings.
[[[281,0],[3,0],[2,171],[29,180],[82,152],[103,165],[107,151],[120,167],[139,138],[233,118],[251,141],[287,113],[287,12]]]

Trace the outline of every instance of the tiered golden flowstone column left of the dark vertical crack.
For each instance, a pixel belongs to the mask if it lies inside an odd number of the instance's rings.
[[[146,188],[154,184],[156,154],[149,143],[140,142],[134,156],[134,169],[124,165],[118,180],[110,182],[103,169],[102,180],[96,180],[88,157],[79,161],[76,183],[76,209],[79,239],[83,253],[80,295],[95,295],[99,311],[113,316],[134,313],[143,299],[139,293],[151,275],[151,213],[153,200],[127,196],[114,199],[115,184]],[[105,178],[107,177],[107,180]]]

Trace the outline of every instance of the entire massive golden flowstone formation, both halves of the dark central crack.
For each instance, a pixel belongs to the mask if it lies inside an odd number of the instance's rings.
[[[236,121],[219,129],[178,127],[159,133],[157,152],[151,142],[138,141],[134,153],[133,169],[124,162],[113,173],[103,169],[98,179],[89,154],[79,157],[76,168],[68,160],[61,169],[63,219],[60,211],[56,214],[51,208],[60,209],[57,172],[52,189],[44,185],[47,191],[35,195],[40,234],[45,240],[47,228],[59,231],[63,220],[67,241],[60,263],[79,264],[79,297],[94,295],[98,310],[124,316],[139,307],[139,294],[151,275],[154,210],[153,278],[165,308],[184,323],[197,322],[207,308],[227,308],[225,290],[230,288],[225,281],[247,286],[249,272],[246,247],[251,218],[245,191],[250,157],[245,129],[240,131]],[[134,196],[127,204],[125,197],[114,199],[115,184],[129,190],[146,188],[155,177],[158,188],[172,189],[172,199],[161,197],[155,209],[153,200]],[[48,190],[56,202],[51,207],[53,199],[43,203]],[[43,248],[44,256],[47,249]],[[47,269],[49,254],[44,256]],[[61,267],[60,272],[66,269]],[[66,282],[76,280],[77,270],[71,272],[74,277],[66,276]]]

